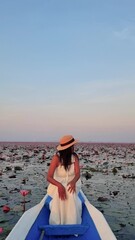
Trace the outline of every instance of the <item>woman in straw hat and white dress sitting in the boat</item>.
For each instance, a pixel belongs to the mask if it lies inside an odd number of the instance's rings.
[[[78,197],[81,187],[80,167],[72,135],[61,138],[47,175],[50,182],[50,224],[80,224],[82,205]]]

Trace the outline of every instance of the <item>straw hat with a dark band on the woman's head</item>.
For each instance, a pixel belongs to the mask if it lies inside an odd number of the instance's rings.
[[[71,147],[75,143],[77,143],[77,141],[73,138],[72,135],[66,135],[60,139],[60,144],[58,145],[57,150],[58,151],[64,150],[66,148]]]

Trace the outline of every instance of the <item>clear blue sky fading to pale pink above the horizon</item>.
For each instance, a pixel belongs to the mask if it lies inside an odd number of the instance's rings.
[[[135,143],[135,1],[0,1],[0,141]]]

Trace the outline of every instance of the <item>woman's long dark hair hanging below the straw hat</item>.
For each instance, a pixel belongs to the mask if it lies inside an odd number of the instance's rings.
[[[67,171],[69,165],[71,165],[71,155],[73,154],[72,147],[59,151],[59,154],[60,154],[60,162],[64,166],[65,170]]]

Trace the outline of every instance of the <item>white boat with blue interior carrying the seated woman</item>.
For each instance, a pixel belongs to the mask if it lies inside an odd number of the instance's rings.
[[[52,198],[46,194],[39,204],[23,213],[6,240],[116,240],[104,215],[82,190],[78,196],[82,202],[81,224],[50,225],[49,202]]]

